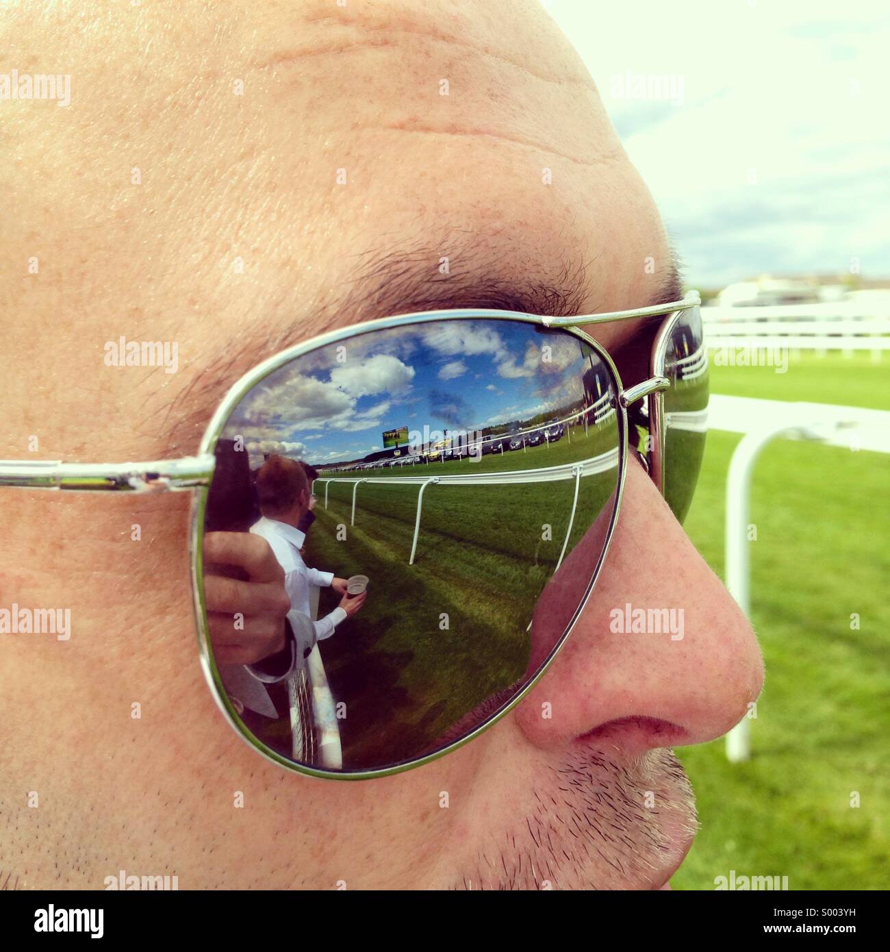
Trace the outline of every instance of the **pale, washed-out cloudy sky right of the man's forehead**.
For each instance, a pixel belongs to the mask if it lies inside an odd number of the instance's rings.
[[[890,276],[886,0],[544,7],[590,69],[693,287],[851,263]],[[635,80],[658,76],[673,89],[646,83],[635,97]]]

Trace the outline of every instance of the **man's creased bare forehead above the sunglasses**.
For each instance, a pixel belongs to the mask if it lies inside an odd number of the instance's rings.
[[[33,71],[71,64],[71,107],[10,122],[2,238],[43,259],[30,286],[16,273],[30,324],[7,353],[64,361],[106,407],[97,433],[36,389],[63,452],[148,456],[174,430],[193,448],[191,421],[251,361],[329,327],[507,307],[515,288],[638,307],[663,283],[648,193],[537,5],[171,9],[102,8],[86,26],[62,11],[46,35],[17,33]],[[428,271],[435,298],[413,281],[382,311],[400,268]],[[175,342],[176,374],[105,367],[121,336]]]

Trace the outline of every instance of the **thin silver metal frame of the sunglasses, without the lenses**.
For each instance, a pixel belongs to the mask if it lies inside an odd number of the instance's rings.
[[[370,780],[377,777],[386,777],[401,773],[413,767],[428,764],[430,761],[444,757],[458,747],[468,744],[478,737],[492,724],[496,724],[510,710],[519,704],[525,695],[542,678],[544,672],[553,663],[553,659],[565,644],[569,634],[581,617],[583,609],[590,599],[605,557],[608,554],[615,526],[621,512],[624,477],[627,468],[627,408],[640,400],[648,401],[649,445],[651,453],[646,463],[649,476],[659,492],[664,495],[664,391],[670,387],[670,380],[664,375],[667,347],[671,339],[671,332],[682,320],[686,311],[694,313],[701,305],[701,298],[697,291],[689,291],[682,298],[663,305],[651,307],[637,307],[632,310],[611,311],[602,314],[583,314],[571,317],[545,317],[538,314],[526,314],[522,311],[492,310],[485,308],[465,308],[454,310],[420,311],[411,314],[401,314],[394,317],[385,317],[364,324],[355,324],[330,331],[319,337],[313,337],[302,344],[288,347],[262,364],[249,370],[227,392],[205,431],[197,456],[182,457],[176,460],[162,460],[152,463],[123,463],[123,464],[93,464],[93,463],[63,463],[60,461],[29,460],[0,460],[0,487],[16,486],[28,489],[66,489],[80,492],[176,492],[184,490],[199,490],[195,493],[191,507],[191,530],[189,542],[189,556],[191,563],[191,583],[193,604],[195,610],[195,624],[200,648],[201,667],[207,679],[210,693],[217,706],[222,711],[228,724],[252,749],[261,753],[268,761],[286,767],[310,777],[329,780]],[[587,325],[601,325],[617,321],[638,320],[648,317],[662,317],[652,344],[649,357],[650,376],[627,389],[623,388],[621,376],[615,367],[608,351],[589,334],[579,329]],[[603,541],[603,550],[600,553],[597,565],[591,572],[590,581],[584,592],[581,603],[569,619],[563,634],[553,645],[550,652],[539,665],[538,670],[531,676],[527,684],[506,701],[501,707],[491,713],[483,724],[475,727],[464,737],[458,738],[440,750],[424,754],[421,757],[390,764],[370,770],[324,770],[292,761],[263,744],[240,722],[237,712],[229,702],[222,678],[216,667],[210,645],[207,605],[204,597],[204,514],[207,506],[208,490],[216,464],[214,449],[226,426],[228,418],[253,387],[256,387],[270,373],[279,367],[290,363],[298,357],[327,347],[330,344],[340,343],[352,337],[371,333],[375,330],[387,330],[393,327],[411,327],[426,324],[432,321],[443,320],[503,320],[535,324],[540,327],[565,330],[570,335],[579,338],[603,361],[611,384],[617,394],[616,417],[619,430],[619,474],[616,488],[615,504],[609,525]]]

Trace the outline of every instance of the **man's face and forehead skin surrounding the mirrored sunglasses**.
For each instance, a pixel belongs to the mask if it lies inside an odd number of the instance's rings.
[[[5,16],[2,70],[70,73],[71,103],[3,104],[2,457],[31,437],[37,459],[193,453],[241,373],[391,313],[394,289],[402,312],[555,292],[583,313],[670,286],[651,198],[534,3]],[[122,336],[176,342],[177,372],[106,366]],[[67,643],[3,645],[4,796],[41,796],[3,845],[33,886],[656,888],[696,823],[666,747],[720,736],[761,688],[742,614],[631,463],[595,597],[523,704],[425,767],[312,780],[251,752],[203,683],[187,495],[0,506],[0,602],[72,619]],[[625,603],[682,606],[682,641],[611,633]]]

